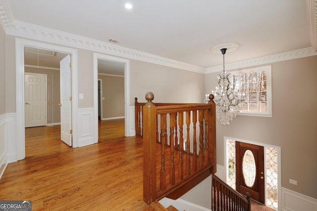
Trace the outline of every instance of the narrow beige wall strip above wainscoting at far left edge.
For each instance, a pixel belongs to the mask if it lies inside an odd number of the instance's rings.
[[[5,113],[5,33],[0,27],[0,114]]]

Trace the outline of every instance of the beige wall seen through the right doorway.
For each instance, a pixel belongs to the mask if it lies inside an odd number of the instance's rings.
[[[98,75],[102,80],[103,113],[101,118],[124,116],[124,77]]]

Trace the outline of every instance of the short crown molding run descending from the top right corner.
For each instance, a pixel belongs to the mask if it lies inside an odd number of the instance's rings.
[[[307,14],[311,45],[317,51],[317,0],[307,0]]]

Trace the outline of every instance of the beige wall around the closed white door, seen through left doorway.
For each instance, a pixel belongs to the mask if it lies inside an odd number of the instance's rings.
[[[24,67],[24,72],[39,73],[47,75],[47,120],[50,123],[60,122],[60,86],[59,70]]]

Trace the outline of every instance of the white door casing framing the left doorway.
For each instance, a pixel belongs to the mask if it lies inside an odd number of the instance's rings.
[[[24,102],[24,47],[31,47],[36,49],[51,50],[61,53],[66,53],[71,55],[72,63],[72,78],[71,86],[77,87],[77,50],[69,49],[60,46],[54,46],[45,43],[39,43],[30,40],[23,40],[16,38],[16,148],[15,148],[15,158],[13,160],[21,160],[25,158],[25,102]],[[40,67],[40,65],[37,65]],[[77,113],[78,113],[78,104],[77,104],[77,89],[71,89],[72,92],[72,122],[73,128],[77,128]],[[78,140],[77,134],[73,133],[74,140]],[[78,146],[78,141],[73,143],[73,147]]]

